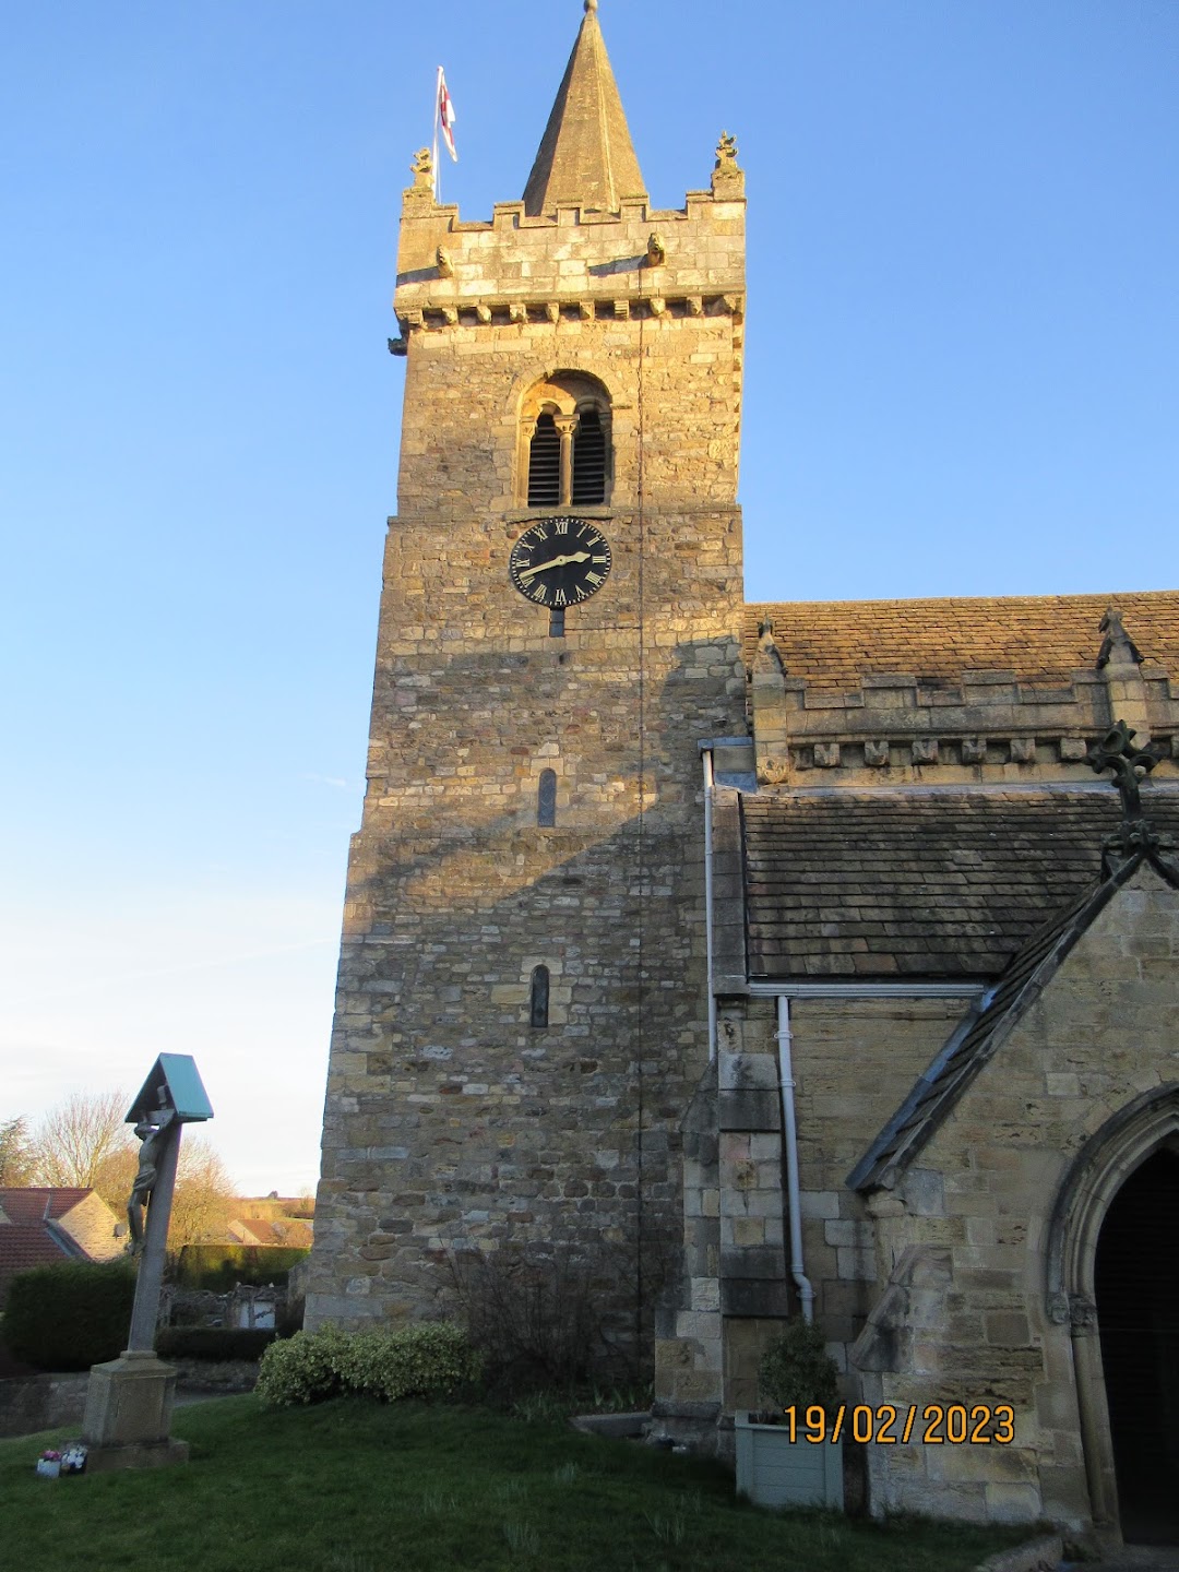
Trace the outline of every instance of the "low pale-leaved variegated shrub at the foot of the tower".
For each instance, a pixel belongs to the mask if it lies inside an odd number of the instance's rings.
[[[459,1327],[415,1322],[388,1331],[296,1331],[272,1342],[258,1372],[258,1396],[272,1407],[319,1402],[336,1391],[443,1398],[478,1380],[481,1360]]]

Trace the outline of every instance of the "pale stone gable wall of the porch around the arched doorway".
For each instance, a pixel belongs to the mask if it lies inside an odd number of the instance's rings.
[[[1176,956],[1179,893],[1143,869],[1078,940],[901,1192],[872,1199],[880,1306],[857,1350],[863,1401],[1016,1410],[1012,1446],[874,1448],[877,1509],[1089,1519],[1074,1349],[1047,1305],[1049,1218],[1085,1141],[1140,1094],[1179,1080],[1165,1027],[1179,1003]]]

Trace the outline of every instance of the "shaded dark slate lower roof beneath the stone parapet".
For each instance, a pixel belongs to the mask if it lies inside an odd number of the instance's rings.
[[[1179,839],[1179,791],[1146,786]],[[740,797],[751,978],[997,978],[1100,876],[1118,794],[1093,788]]]

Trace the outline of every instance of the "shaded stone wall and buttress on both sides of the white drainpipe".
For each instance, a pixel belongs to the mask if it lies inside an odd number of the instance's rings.
[[[872,1221],[846,1177],[965,1008],[965,1000],[791,1003],[803,1262],[816,1319],[844,1371],[877,1295]],[[660,1418],[696,1421],[696,1431],[759,1405],[764,1344],[780,1317],[797,1313],[775,1030],[772,998],[725,1001],[718,1061],[685,1119],[685,1286],[679,1308],[660,1316],[656,1394]]]

